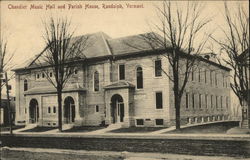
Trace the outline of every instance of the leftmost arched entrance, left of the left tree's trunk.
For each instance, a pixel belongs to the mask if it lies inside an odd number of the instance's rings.
[[[36,99],[32,99],[29,104],[30,123],[37,123],[39,119],[39,108]]]

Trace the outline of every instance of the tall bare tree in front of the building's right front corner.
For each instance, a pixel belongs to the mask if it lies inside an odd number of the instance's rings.
[[[163,1],[162,6],[156,7],[159,24],[153,24],[155,32],[142,37],[153,49],[163,49],[162,55],[169,61],[171,71],[162,71],[173,83],[176,129],[180,129],[181,99],[208,40],[209,35],[201,32],[210,19],[201,16],[203,7],[197,2],[187,2],[186,9],[177,4],[173,7],[172,3]]]

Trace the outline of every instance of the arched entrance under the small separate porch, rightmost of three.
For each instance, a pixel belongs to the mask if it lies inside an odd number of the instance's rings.
[[[115,94],[111,98],[111,116],[113,123],[123,122],[124,119],[124,103],[119,94]]]

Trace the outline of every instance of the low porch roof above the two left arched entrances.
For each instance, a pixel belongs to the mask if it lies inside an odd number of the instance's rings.
[[[85,92],[86,88],[81,87],[79,84],[73,84],[71,86],[66,86],[63,89],[65,92]],[[35,94],[48,94],[48,93],[57,93],[55,87],[35,87],[31,88],[28,91],[24,92],[24,95],[35,95]]]

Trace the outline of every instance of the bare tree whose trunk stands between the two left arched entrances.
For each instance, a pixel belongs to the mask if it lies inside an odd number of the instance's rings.
[[[62,92],[77,67],[84,59],[88,36],[73,37],[74,31],[67,18],[53,18],[44,24],[46,48],[38,63],[47,80],[56,88],[58,102],[58,129],[62,131]],[[52,77],[50,74],[53,74]]]

